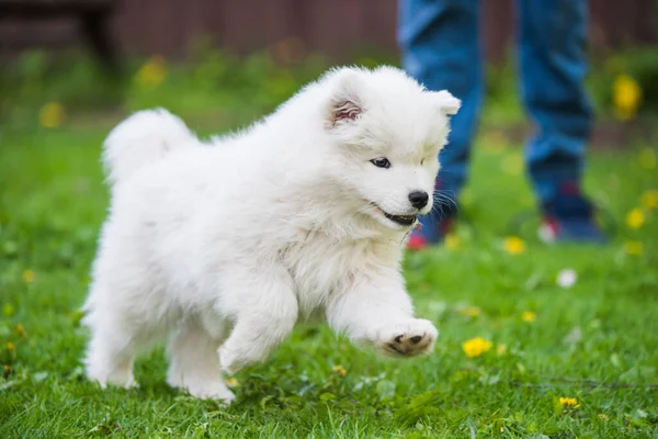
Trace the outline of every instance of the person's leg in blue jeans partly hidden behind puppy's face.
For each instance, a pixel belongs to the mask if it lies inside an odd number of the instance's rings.
[[[478,8],[478,0],[400,0],[398,38],[404,68],[428,89],[447,90],[462,100],[440,156],[436,181],[436,189],[453,203],[466,181],[483,94]],[[450,202],[435,207],[421,219],[423,227],[417,233],[428,243],[441,239],[440,219],[454,212]]]

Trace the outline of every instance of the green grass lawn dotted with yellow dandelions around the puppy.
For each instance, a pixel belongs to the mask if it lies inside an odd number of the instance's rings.
[[[161,350],[138,362],[139,390],[101,391],[82,374],[77,308],[107,206],[98,160],[107,127],[0,132],[0,438],[658,437],[658,211],[638,229],[625,225],[658,189],[642,145],[589,161],[588,192],[617,219],[612,241],[547,247],[533,222],[509,228],[534,201],[520,149],[484,133],[460,248],[405,266],[419,315],[442,331],[435,353],[383,360],[326,327],[300,327],[237,376],[237,403],[223,408],[168,389]],[[504,251],[510,234],[523,254]],[[627,255],[627,240],[642,255]],[[578,281],[561,289],[567,268]],[[526,311],[536,320],[524,322]],[[491,350],[467,358],[462,344],[474,337]],[[580,406],[564,409],[559,397]]]

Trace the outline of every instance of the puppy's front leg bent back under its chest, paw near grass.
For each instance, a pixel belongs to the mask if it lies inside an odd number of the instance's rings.
[[[284,269],[259,267],[239,283],[236,324],[219,348],[219,363],[228,373],[264,361],[290,336],[298,315],[293,282]]]

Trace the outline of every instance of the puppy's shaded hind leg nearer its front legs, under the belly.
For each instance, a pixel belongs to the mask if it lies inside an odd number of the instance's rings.
[[[167,383],[201,399],[230,403],[235,395],[224,383],[217,356],[223,338],[211,336],[197,322],[184,322],[169,340],[171,364]]]

